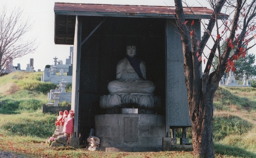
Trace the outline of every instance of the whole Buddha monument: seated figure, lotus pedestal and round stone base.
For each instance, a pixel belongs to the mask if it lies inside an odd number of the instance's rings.
[[[126,57],[116,67],[116,80],[107,88],[109,94],[100,97],[100,107],[107,114],[95,116],[100,147],[105,151],[161,150],[165,118],[154,114],[160,99],[153,94],[153,82],[146,80],[146,64],[136,57],[136,46],[126,47]]]

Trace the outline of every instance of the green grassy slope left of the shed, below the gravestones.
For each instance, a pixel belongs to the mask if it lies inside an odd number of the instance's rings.
[[[48,102],[46,94],[56,84],[41,82],[41,75],[42,72],[12,72],[0,77],[0,88],[5,90],[0,95],[1,134],[35,138],[53,134],[56,115],[44,114],[40,107]]]

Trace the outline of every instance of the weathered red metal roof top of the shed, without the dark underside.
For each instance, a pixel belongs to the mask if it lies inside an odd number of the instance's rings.
[[[209,19],[213,10],[204,7],[183,7],[185,18]],[[54,5],[57,15],[74,16],[113,16],[113,17],[145,17],[145,18],[174,18],[174,6],[132,6],[112,4],[78,4],[60,3]],[[221,14],[224,18],[226,15]]]

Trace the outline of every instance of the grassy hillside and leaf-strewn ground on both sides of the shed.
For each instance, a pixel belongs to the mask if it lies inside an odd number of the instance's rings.
[[[90,152],[50,148],[56,114],[40,111],[56,84],[40,82],[42,72],[13,72],[0,77],[0,150],[46,158],[192,158],[190,149],[168,152]],[[71,90],[71,88],[68,88]],[[61,103],[61,105],[65,103]],[[214,98],[213,138],[216,157],[256,157],[256,88],[218,88]],[[181,135],[178,130],[177,136]],[[191,138],[191,129],[188,129]]]

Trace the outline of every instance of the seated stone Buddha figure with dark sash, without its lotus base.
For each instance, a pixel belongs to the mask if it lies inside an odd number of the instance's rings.
[[[126,57],[116,66],[116,80],[108,83],[110,94],[152,94],[153,82],[146,80],[146,64],[136,55],[136,46],[126,46]]]

